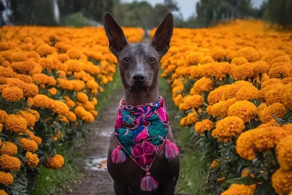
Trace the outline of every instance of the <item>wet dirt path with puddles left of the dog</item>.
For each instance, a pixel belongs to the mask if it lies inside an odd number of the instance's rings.
[[[87,135],[88,149],[85,150],[87,160],[81,164],[85,168],[84,177],[73,184],[72,192],[66,192],[65,195],[114,195],[112,180],[103,160],[107,158],[109,138],[123,93],[122,89],[115,91],[108,101],[108,107],[101,110],[97,119],[88,126],[90,133]]]

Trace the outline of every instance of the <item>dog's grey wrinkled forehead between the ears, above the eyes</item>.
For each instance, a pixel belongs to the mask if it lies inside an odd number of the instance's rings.
[[[155,57],[159,58],[158,52],[150,43],[130,43],[120,53],[119,57]]]

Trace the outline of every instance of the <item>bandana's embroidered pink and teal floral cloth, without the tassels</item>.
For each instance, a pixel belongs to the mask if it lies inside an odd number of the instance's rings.
[[[164,145],[168,133],[164,100],[139,106],[125,105],[122,99],[115,122],[115,135],[121,147],[144,170],[149,170]]]

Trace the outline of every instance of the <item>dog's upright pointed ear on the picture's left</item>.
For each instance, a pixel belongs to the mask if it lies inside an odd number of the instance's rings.
[[[109,40],[109,49],[117,57],[128,44],[125,34],[110,13],[105,14],[105,33]]]

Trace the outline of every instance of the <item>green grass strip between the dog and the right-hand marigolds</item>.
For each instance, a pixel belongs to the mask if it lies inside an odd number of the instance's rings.
[[[190,130],[179,125],[176,118],[178,108],[172,101],[170,85],[166,79],[160,78],[160,94],[164,97],[168,118],[175,140],[180,148],[180,176],[176,185],[177,195],[206,195],[206,161],[202,152],[194,147]]]

